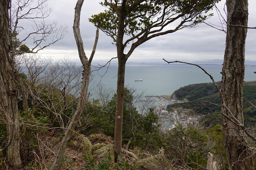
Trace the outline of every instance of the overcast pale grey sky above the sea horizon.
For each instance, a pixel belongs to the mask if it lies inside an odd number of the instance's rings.
[[[77,45],[73,34],[73,21],[75,13],[76,0],[48,0],[48,7],[52,8],[50,17],[45,22],[57,21],[58,25],[67,25],[68,33],[65,37],[50,45],[40,54],[43,57],[50,56],[57,60],[63,57],[69,57],[79,62]],[[81,10],[80,31],[83,39],[85,53],[89,57],[93,48],[96,28],[89,22],[93,14],[103,12],[106,8],[99,4],[101,0],[85,0]],[[224,12],[225,0],[217,4],[219,10]],[[249,18],[248,26],[256,27],[256,1],[248,0]],[[219,24],[219,18],[216,9],[212,13],[215,15],[206,20],[207,23]],[[23,22],[23,21],[22,21]],[[26,26],[26,34],[32,26],[26,22],[20,23]],[[26,23],[26,24],[25,24]],[[20,33],[20,39],[26,36],[25,32]],[[163,62],[163,58],[168,61],[197,61],[210,59],[223,59],[225,50],[226,34],[215,28],[202,23],[196,28],[184,28],[177,32],[153,38],[135,49],[128,61],[147,61]],[[112,44],[113,39],[105,35],[101,30],[99,32],[99,41],[94,55],[94,61],[107,61],[116,57],[116,47]],[[27,42],[28,47],[32,46]],[[246,37],[246,59],[256,60],[256,29],[248,29]]]

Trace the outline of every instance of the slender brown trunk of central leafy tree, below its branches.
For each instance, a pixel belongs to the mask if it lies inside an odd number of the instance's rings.
[[[125,59],[118,59],[117,73],[117,107],[115,113],[114,149],[115,157],[122,154],[123,101],[125,89]]]

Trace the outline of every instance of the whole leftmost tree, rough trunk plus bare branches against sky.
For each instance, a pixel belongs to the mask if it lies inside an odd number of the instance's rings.
[[[67,33],[67,27],[57,28],[56,22],[48,25],[44,24],[44,18],[48,17],[50,14],[46,2],[46,0],[38,0],[35,3],[33,3],[32,0],[19,0],[17,2],[14,0],[4,0],[0,2],[0,112],[4,119],[4,125],[8,135],[7,158],[10,166],[14,168],[21,168],[17,84],[22,84],[22,79],[15,68],[15,57],[28,52],[36,53],[58,40],[61,40]],[[32,7],[32,5],[35,6]],[[20,27],[18,23],[23,19],[30,20],[35,24],[35,27],[32,32],[28,33],[28,35],[20,41],[17,35],[20,31],[24,30],[24,28]],[[39,24],[40,19],[42,21]],[[54,37],[52,42],[46,42],[49,36]],[[28,47],[24,45],[28,38],[32,38],[35,44],[29,51]],[[43,43],[44,45],[42,45]],[[20,89],[22,90],[23,88]]]

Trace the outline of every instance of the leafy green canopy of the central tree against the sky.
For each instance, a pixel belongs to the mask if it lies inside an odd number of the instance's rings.
[[[100,4],[105,12],[89,18],[97,28],[117,40],[119,22],[123,22],[124,34],[135,38],[147,38],[163,32],[168,24],[179,21],[174,29],[194,27],[212,14],[209,12],[220,0],[105,0]],[[122,21],[121,21],[122,20]],[[170,33],[170,32],[167,32]],[[152,37],[153,38],[153,37]],[[126,42],[127,43],[127,42]]]

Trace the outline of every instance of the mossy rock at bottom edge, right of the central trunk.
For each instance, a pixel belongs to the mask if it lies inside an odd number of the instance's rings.
[[[146,169],[155,170],[168,167],[168,161],[162,154],[157,154],[149,158],[141,159],[135,162],[136,166],[141,166]]]

